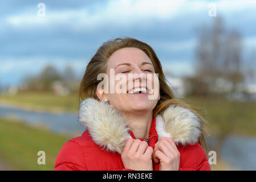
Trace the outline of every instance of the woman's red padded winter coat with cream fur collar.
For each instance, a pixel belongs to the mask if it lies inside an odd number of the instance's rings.
[[[80,104],[79,122],[87,130],[64,144],[55,170],[129,170],[124,168],[121,152],[127,138],[136,138],[113,106],[87,98]],[[191,111],[170,106],[153,118],[147,141],[154,148],[158,138],[172,137],[180,152],[180,170],[210,170],[205,151],[197,143],[200,127]],[[158,171],[159,163],[152,162]]]

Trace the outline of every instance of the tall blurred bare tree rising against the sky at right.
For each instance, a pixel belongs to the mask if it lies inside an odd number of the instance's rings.
[[[225,94],[234,92],[244,81],[242,72],[242,38],[237,30],[228,32],[224,28],[221,16],[216,18],[212,26],[202,26],[198,31],[196,47],[196,75],[190,80],[196,88],[197,94]],[[233,85],[227,90],[227,84]]]

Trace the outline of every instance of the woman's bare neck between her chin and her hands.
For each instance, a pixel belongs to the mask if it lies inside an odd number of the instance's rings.
[[[153,113],[124,113],[128,127],[136,138],[148,138]]]

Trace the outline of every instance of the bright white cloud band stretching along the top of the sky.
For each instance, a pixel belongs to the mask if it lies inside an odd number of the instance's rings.
[[[18,26],[49,26],[63,24],[75,29],[99,28],[103,23],[123,27],[132,24],[153,23],[157,20],[169,20],[177,15],[194,12],[206,12],[208,16],[209,4],[216,3],[219,12],[234,12],[256,9],[254,0],[222,0],[222,1],[191,1],[191,0],[109,0],[104,4],[95,4],[79,9],[51,9],[46,3],[46,16],[38,17],[35,9],[4,18],[5,22],[14,27]],[[35,7],[36,8],[36,7]]]

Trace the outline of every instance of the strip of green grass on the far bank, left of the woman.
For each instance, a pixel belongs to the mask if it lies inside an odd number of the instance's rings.
[[[78,95],[57,96],[53,93],[25,92],[16,95],[0,94],[0,102],[30,110],[72,111],[78,113]]]

